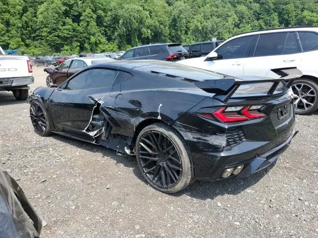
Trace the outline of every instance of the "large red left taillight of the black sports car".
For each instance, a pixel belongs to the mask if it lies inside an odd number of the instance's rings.
[[[262,106],[220,108],[213,114],[200,113],[199,115],[208,119],[214,119],[214,116],[222,122],[238,122],[266,117],[266,114],[259,111],[261,107]]]

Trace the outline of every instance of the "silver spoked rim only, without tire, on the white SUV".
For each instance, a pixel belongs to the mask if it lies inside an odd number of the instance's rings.
[[[310,85],[310,83],[302,81],[296,82],[292,85],[295,111],[298,114],[305,114],[312,110],[314,111],[314,108],[317,106],[317,92],[315,88]]]

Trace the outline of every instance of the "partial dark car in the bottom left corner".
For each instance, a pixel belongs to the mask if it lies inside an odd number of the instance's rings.
[[[0,238],[37,238],[42,222],[16,181],[0,168]]]

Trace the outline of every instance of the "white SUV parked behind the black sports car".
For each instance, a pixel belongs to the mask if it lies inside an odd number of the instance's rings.
[[[318,109],[318,27],[292,27],[248,32],[225,41],[208,56],[178,63],[228,75],[279,77],[275,69],[298,68],[295,80],[297,114]]]

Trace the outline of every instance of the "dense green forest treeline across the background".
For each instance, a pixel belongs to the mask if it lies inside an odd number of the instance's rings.
[[[33,56],[300,25],[318,25],[318,0],[0,0],[0,46]]]

